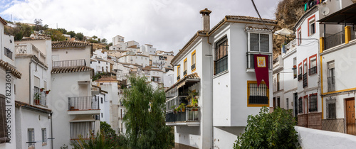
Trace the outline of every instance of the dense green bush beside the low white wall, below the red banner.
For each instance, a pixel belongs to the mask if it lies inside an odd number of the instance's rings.
[[[248,116],[245,133],[237,137],[234,148],[297,148],[292,111],[281,108],[269,113],[266,106],[256,116]]]

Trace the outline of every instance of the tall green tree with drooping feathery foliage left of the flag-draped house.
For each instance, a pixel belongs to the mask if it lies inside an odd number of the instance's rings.
[[[153,89],[146,77],[129,77],[124,90],[126,136],[130,148],[172,148],[172,131],[165,124],[163,89]]]

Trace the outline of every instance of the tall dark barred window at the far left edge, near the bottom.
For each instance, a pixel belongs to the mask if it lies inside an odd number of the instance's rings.
[[[0,94],[0,143],[9,142],[7,138],[6,123],[6,96]]]

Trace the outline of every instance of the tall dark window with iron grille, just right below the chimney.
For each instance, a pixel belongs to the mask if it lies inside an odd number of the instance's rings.
[[[222,38],[215,45],[214,75],[227,70],[228,46],[227,37]]]

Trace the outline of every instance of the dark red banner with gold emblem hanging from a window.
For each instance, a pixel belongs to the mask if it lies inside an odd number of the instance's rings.
[[[268,77],[268,55],[253,55],[257,87],[260,86],[262,79],[269,89]]]

